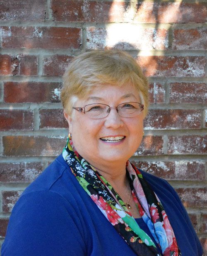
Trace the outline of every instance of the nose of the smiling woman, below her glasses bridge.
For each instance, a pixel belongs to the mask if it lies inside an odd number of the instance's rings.
[[[107,128],[112,127],[113,129],[123,127],[124,123],[123,123],[122,117],[120,117],[116,107],[110,108],[110,111],[108,113],[108,116],[106,117],[104,125]]]

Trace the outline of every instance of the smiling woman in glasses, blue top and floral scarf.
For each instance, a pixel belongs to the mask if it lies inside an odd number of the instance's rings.
[[[122,51],[77,56],[61,100],[63,153],[14,206],[2,256],[201,256],[178,195],[128,159],[143,136],[147,79]]]

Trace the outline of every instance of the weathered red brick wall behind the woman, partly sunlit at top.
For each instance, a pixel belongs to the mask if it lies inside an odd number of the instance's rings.
[[[1,243],[22,190],[65,144],[65,67],[88,49],[113,47],[130,52],[150,83],[132,161],[169,180],[207,253],[205,22],[200,0],[0,0]]]

